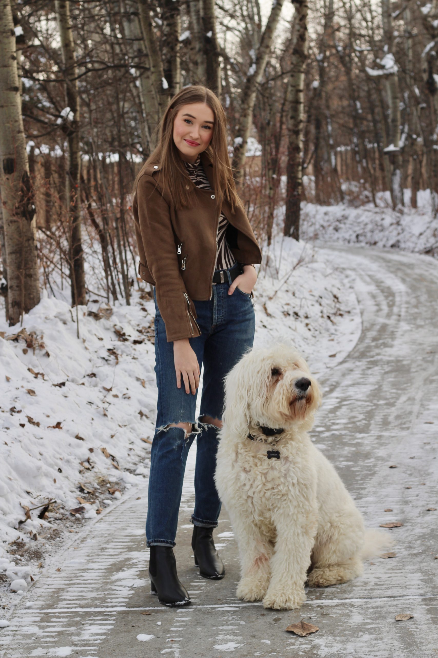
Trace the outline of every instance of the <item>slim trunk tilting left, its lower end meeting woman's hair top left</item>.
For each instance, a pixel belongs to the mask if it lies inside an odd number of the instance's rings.
[[[151,7],[149,0],[137,0],[139,3],[140,23],[143,33],[144,43],[149,55],[150,78],[156,103],[158,106],[158,118],[164,114],[165,108],[169,101],[169,84],[164,77],[164,68],[158,47],[158,40],[154,32],[152,17],[150,15]]]

